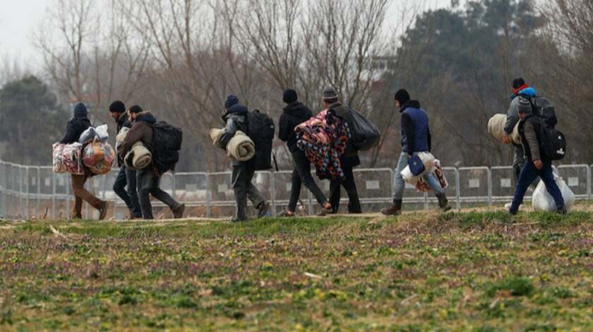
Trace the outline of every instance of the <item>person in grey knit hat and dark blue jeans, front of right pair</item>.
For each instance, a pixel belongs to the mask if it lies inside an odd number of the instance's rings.
[[[508,211],[513,215],[517,214],[523,196],[525,196],[525,191],[527,191],[534,179],[539,176],[541,181],[546,184],[546,190],[556,201],[558,213],[565,214],[564,199],[552,173],[552,161],[546,160],[539,150],[540,133],[546,124],[532,114],[532,105],[524,97],[517,98],[517,114],[520,118],[519,136],[521,137],[522,150],[525,153],[525,164],[519,174],[517,186],[515,186],[515,196],[513,196],[513,202],[511,202]]]

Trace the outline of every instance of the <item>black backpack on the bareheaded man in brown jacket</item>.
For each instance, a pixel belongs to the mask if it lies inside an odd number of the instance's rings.
[[[152,127],[152,163],[161,174],[167,170],[175,170],[179,161],[179,150],[183,141],[183,131],[165,121],[149,124]]]

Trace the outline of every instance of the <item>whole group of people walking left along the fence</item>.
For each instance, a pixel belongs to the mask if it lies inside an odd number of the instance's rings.
[[[509,206],[510,213],[517,213],[522,198],[529,184],[532,184],[537,177],[540,177],[546,184],[546,189],[553,196],[558,207],[558,213],[566,213],[563,198],[556,182],[554,182],[551,160],[541,158],[539,154],[539,141],[541,122],[532,114],[530,103],[525,105],[525,99],[518,99],[518,96],[535,96],[535,90],[525,85],[522,78],[515,78],[512,83],[511,103],[507,112],[507,123],[503,141],[510,143],[508,135],[515,124],[520,121],[519,134],[521,144],[515,144],[515,158],[513,170],[515,181],[515,195]],[[337,213],[340,206],[341,188],[344,187],[348,196],[348,212],[361,213],[361,203],[358,196],[356,182],[354,181],[353,169],[360,165],[359,151],[350,141],[347,141],[345,149],[340,155],[340,165],[344,176],[330,179],[329,195],[325,196],[311,176],[311,161],[305,153],[297,146],[295,127],[308,121],[313,117],[311,109],[299,101],[296,90],[288,88],[282,94],[282,101],[286,104],[282,109],[278,126],[278,137],[287,143],[292,154],[294,170],[292,171],[292,189],[288,205],[280,212],[281,217],[292,217],[296,215],[296,205],[299,201],[301,186],[304,185],[316,198],[320,205],[318,215]],[[349,123],[352,119],[349,108],[340,102],[340,96],[334,88],[328,87],[323,90],[321,102],[325,109],[333,109],[338,117]],[[408,165],[409,158],[418,153],[431,151],[431,131],[429,117],[426,111],[421,108],[418,100],[412,100],[407,90],[400,89],[394,95],[395,107],[400,112],[400,131],[402,150],[397,161],[397,169],[394,175],[395,195],[393,203],[381,209],[383,215],[400,215],[402,213],[402,199],[405,189],[405,179],[402,177],[402,170]],[[228,95],[224,101],[222,120],[224,129],[220,136],[220,148],[226,149],[227,144],[233,138],[236,131],[248,132],[248,109],[239,103],[236,95]],[[152,145],[152,128],[156,118],[150,111],[143,110],[140,106],[134,105],[126,110],[124,103],[116,100],[109,106],[109,112],[116,121],[117,131],[123,127],[130,130],[126,135],[124,143],[118,150],[117,164],[120,167],[119,173],[114,182],[115,193],[126,203],[130,211],[130,218],[152,219],[152,208],[150,195],[159,199],[169,206],[174,218],[181,218],[185,205],[174,200],[167,192],[159,188],[162,173],[157,167],[146,167],[143,170],[131,170],[124,165],[123,158],[134,143],[141,141],[146,146]],[[81,102],[74,107],[73,119],[68,121],[66,135],[60,143],[73,143],[78,140],[80,134],[90,126],[88,110]],[[261,192],[251,183],[255,168],[248,161],[232,160],[232,187],[236,199],[236,216],[234,221],[248,219],[247,198],[256,208],[257,217],[261,218],[268,213],[270,203]],[[86,168],[86,167],[85,167]],[[107,202],[93,196],[84,189],[86,179],[93,174],[85,170],[85,174],[72,175],[72,187],[75,196],[75,205],[72,211],[73,218],[80,218],[82,201],[87,201],[91,206],[97,208],[100,219],[107,215]],[[438,198],[438,206],[442,211],[449,211],[451,206],[441,186],[441,183],[431,172],[423,175],[424,181],[430,186]]]

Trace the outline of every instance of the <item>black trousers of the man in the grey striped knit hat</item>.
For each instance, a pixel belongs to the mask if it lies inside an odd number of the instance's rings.
[[[340,158],[340,165],[344,171],[345,179],[332,179],[330,182],[330,204],[332,210],[337,213],[337,208],[340,207],[340,186],[346,189],[348,194],[348,212],[349,213],[361,213],[360,201],[358,197],[357,184],[354,183],[354,174],[352,168],[356,165],[360,165],[358,157],[342,157]]]

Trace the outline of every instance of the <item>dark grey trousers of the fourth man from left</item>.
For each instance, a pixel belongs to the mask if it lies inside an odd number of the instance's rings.
[[[240,162],[238,166],[233,166],[232,184],[236,201],[236,218],[239,220],[247,219],[247,198],[256,208],[265,202],[265,198],[260,191],[251,183],[253,174],[256,172],[248,162]]]

